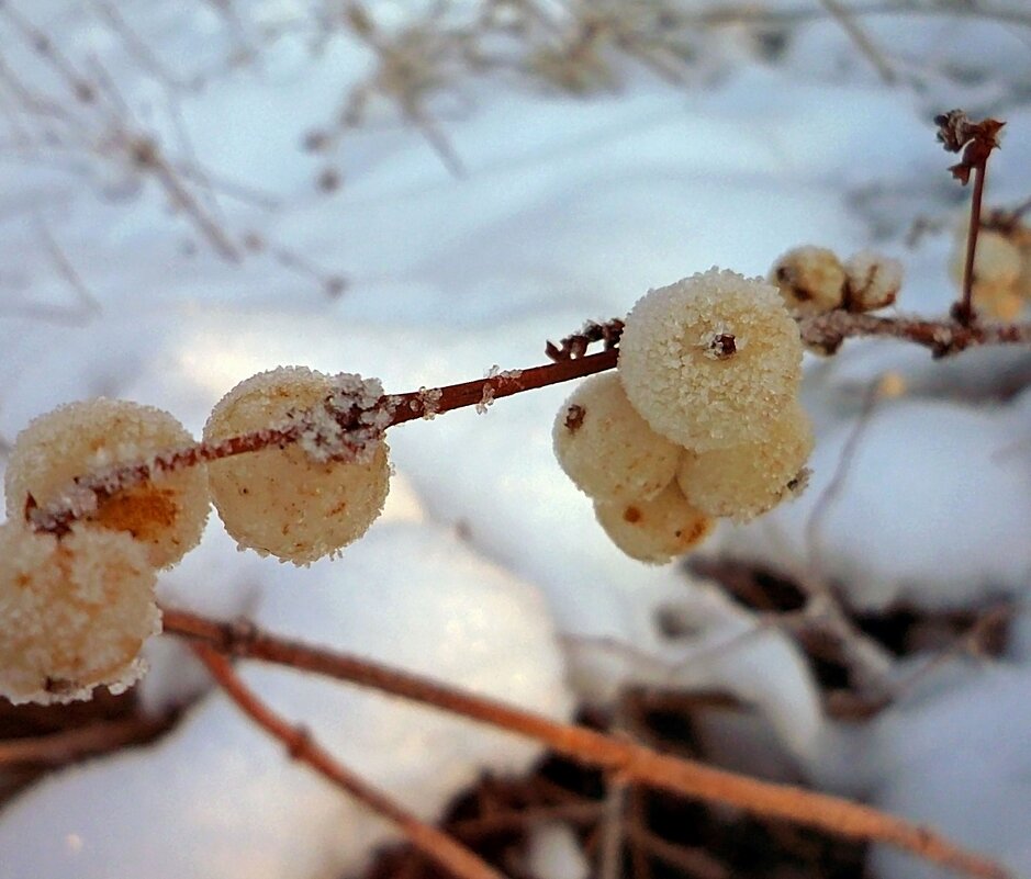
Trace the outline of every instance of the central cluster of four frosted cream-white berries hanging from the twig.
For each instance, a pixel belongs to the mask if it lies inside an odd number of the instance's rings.
[[[798,327],[776,288],[713,269],[631,309],[616,374],[559,410],[554,449],[628,555],[662,564],[715,519],[747,521],[798,489],[813,448]]]

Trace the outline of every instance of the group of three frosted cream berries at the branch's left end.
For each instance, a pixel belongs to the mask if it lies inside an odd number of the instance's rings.
[[[149,406],[99,398],[33,420],[4,476],[0,696],[68,701],[132,684],[143,642],[160,629],[156,571],[197,545],[212,500],[242,546],[296,564],[365,533],[390,475],[380,395],[355,375],[256,375],[215,407],[205,440],[300,425],[300,441],[210,467],[172,463],[193,440]],[[348,407],[358,424],[344,430],[333,413]],[[147,477],[127,477],[134,466]]]

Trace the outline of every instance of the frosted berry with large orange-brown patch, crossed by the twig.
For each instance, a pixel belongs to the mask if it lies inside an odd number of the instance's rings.
[[[167,412],[123,399],[59,406],[18,435],[4,475],[7,512],[21,518],[36,505],[61,505],[146,546],[154,567],[168,567],[198,544],[208,519],[203,467],[158,472],[152,480],[107,496],[77,489],[75,477],[146,461],[189,446],[190,433]]]

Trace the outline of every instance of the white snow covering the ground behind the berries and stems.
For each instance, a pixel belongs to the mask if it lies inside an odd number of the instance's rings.
[[[561,15],[561,3],[540,5]],[[199,432],[222,394],[279,364],[374,375],[391,391],[535,365],[546,339],[625,314],[650,286],[713,264],[763,274],[800,244],[897,256],[900,306],[943,314],[951,232],[904,246],[914,218],[952,224],[966,195],[930,120],[953,106],[1004,116],[989,201],[1031,195],[1026,4],[985,3],[1013,13],[1002,20],[963,4],[862,16],[893,83],[815,0],[758,5],[813,15],[785,26],[773,56],[748,26],[706,31],[683,86],[627,60],[618,90],[585,97],[511,74],[456,80],[428,103],[456,177],[382,98],[362,127],[305,149],[374,69],[338,4],[3,4],[0,438],[93,395],[161,406]],[[423,14],[369,8],[384,33]],[[33,53],[32,27],[58,63]],[[79,79],[99,90],[92,100],[76,100]],[[141,138],[170,177],[133,164]],[[328,171],[338,189],[320,187]],[[171,210],[169,179],[194,219]],[[865,425],[815,546],[814,507],[885,373],[907,393]],[[865,610],[1019,607],[1031,586],[1031,391],[1011,392],[1029,375],[1026,352],[942,364],[888,342],[814,361],[807,494],[714,548],[833,582]],[[629,678],[720,688],[757,706],[776,740],[774,756],[749,755],[754,740],[736,744],[729,729],[716,748],[727,758],[927,821],[1031,876],[1027,617],[1001,658],[956,660],[876,720],[832,722],[789,640],[747,635],[755,620],[714,585],[608,543],[551,455],[568,392],[392,431],[386,514],[338,561],[295,570],[237,553],[213,516],[201,548],[163,575],[163,599],[557,718]],[[669,613],[690,634],[663,635],[657,616]],[[209,687],[179,645],[148,652],[141,688],[155,710]],[[350,688],[244,674],[427,819],[480,771],[536,756]],[[361,868],[389,833],[206,692],[157,744],[54,774],[7,804],[0,879],[323,879]],[[528,869],[582,876],[582,858],[549,826]],[[871,866],[883,879],[938,875],[887,853]]]

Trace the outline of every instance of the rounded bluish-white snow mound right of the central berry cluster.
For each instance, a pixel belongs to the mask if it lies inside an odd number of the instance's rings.
[[[728,533],[721,549],[840,584],[862,610],[1020,598],[1031,579],[1031,466],[1006,454],[1016,426],[1006,405],[882,401],[825,431],[799,499]]]

